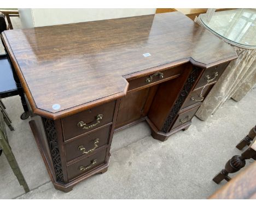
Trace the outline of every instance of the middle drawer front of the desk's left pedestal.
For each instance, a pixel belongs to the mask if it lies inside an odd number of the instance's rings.
[[[89,155],[95,150],[108,144],[110,127],[108,125],[103,129],[85,134],[85,136],[74,139],[65,144],[67,162],[82,155]]]

